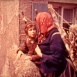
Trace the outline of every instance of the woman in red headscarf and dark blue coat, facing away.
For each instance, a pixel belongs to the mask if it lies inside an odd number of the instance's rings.
[[[35,49],[41,58],[41,72],[46,77],[59,77],[66,66],[64,43],[49,13],[38,13],[36,22],[42,36]]]

